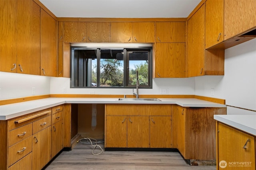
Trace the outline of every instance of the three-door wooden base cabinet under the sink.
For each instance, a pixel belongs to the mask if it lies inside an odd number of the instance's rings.
[[[106,104],[105,111],[106,148],[172,147],[171,105]]]

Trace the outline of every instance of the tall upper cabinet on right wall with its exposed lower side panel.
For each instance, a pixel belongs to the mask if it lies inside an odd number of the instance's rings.
[[[205,4],[187,22],[187,77],[224,75],[224,49],[205,50]]]

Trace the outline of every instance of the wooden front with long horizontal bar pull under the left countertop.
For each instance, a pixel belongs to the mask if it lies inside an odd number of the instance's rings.
[[[24,126],[38,119],[42,119],[43,117],[46,117],[48,115],[52,115],[51,108],[11,119],[8,121],[8,131]]]

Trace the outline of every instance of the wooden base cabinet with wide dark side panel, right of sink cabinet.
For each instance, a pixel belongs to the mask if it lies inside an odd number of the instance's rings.
[[[213,115],[218,114],[226,114],[226,107],[172,106],[173,146],[178,148],[184,159],[216,160]]]

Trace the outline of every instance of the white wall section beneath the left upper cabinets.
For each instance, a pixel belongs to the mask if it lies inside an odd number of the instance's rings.
[[[0,100],[50,94],[50,77],[0,72]]]

